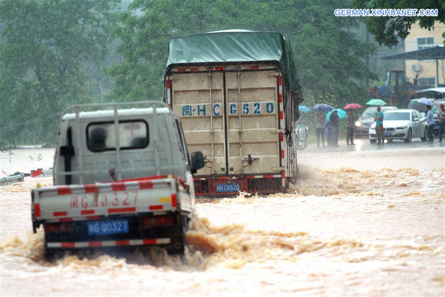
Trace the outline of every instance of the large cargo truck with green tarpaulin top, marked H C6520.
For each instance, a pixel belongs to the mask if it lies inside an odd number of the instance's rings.
[[[164,101],[204,154],[199,196],[284,192],[298,178],[301,86],[280,33],[229,30],[169,42]],[[298,137],[299,136],[299,137]]]

